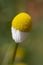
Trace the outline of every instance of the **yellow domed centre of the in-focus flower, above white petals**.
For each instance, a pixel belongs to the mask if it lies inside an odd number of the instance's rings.
[[[22,32],[29,32],[32,29],[31,16],[28,13],[22,12],[14,17],[12,27]]]

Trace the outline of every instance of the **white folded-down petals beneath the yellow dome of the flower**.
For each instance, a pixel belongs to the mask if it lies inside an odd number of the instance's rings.
[[[12,38],[15,40],[16,43],[23,42],[29,35],[28,32],[21,32],[19,30],[14,29],[11,27],[11,32],[12,32]]]

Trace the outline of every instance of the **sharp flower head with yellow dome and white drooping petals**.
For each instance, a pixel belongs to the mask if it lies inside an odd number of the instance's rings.
[[[11,32],[13,40],[17,43],[23,42],[27,38],[31,29],[31,16],[25,12],[19,13],[12,20]]]

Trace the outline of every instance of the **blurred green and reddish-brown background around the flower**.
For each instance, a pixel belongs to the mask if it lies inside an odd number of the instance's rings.
[[[11,37],[11,22],[22,11],[31,15],[33,27],[28,40],[19,44],[25,54],[20,56],[18,52],[18,56],[25,58],[16,59],[15,63],[43,65],[43,0],[0,0],[0,65],[5,65],[3,62],[8,65],[9,56],[12,59],[15,42]]]

